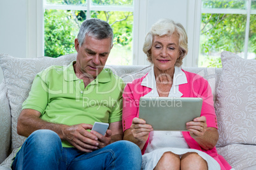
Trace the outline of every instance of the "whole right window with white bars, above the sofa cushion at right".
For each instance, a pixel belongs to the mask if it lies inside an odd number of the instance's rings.
[[[222,67],[224,50],[256,59],[256,0],[202,0],[199,67]]]

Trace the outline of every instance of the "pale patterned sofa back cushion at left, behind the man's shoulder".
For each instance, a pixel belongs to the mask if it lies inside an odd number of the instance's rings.
[[[1,54],[0,64],[6,82],[7,96],[11,108],[11,150],[20,147],[25,138],[17,134],[17,119],[22,103],[29,95],[35,75],[50,65],[68,65],[76,60],[76,55],[65,55],[59,58],[13,58]]]

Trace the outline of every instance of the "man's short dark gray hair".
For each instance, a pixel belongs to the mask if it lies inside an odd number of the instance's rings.
[[[79,46],[83,45],[85,36],[95,37],[96,39],[111,37],[111,46],[113,45],[113,30],[110,24],[98,18],[90,18],[82,23],[77,35]]]

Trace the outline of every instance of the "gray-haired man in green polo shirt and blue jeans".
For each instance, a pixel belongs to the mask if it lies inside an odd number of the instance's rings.
[[[103,69],[112,47],[110,25],[85,20],[76,62],[36,75],[18,117],[18,134],[28,138],[13,169],[140,169],[139,148],[120,141],[124,82]],[[104,136],[90,131],[94,122],[110,124]]]

